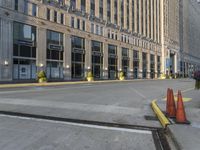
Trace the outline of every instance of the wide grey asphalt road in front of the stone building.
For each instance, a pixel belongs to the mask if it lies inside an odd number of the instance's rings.
[[[188,90],[192,80],[155,80],[0,89],[0,111],[160,128],[150,108],[167,88]],[[104,128],[0,115],[2,150],[155,149],[150,131]],[[12,137],[12,138],[10,138]]]

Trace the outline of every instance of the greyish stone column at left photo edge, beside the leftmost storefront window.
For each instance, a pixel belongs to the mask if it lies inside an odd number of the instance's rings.
[[[0,81],[12,80],[13,22],[0,18]]]

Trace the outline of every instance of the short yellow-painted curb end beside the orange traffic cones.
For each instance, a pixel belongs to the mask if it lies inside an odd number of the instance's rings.
[[[166,128],[167,125],[170,125],[169,120],[167,119],[167,117],[165,117],[165,115],[163,114],[161,109],[158,107],[156,100],[153,100],[151,102],[151,107],[152,107],[154,113],[156,114],[156,116],[158,117],[163,128]]]

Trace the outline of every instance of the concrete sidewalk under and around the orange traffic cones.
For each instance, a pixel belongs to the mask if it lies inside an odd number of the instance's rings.
[[[176,91],[174,91],[176,92]],[[200,149],[200,91],[191,90],[182,93],[183,97],[192,98],[189,102],[184,102],[187,119],[190,125],[172,124],[168,125],[167,130],[172,137],[176,148],[180,150],[199,150]],[[166,101],[159,100],[157,104],[162,111],[165,111]]]

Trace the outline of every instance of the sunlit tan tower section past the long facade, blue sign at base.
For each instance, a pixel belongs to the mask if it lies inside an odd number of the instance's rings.
[[[162,1],[162,70],[166,74],[179,72],[179,0]]]

